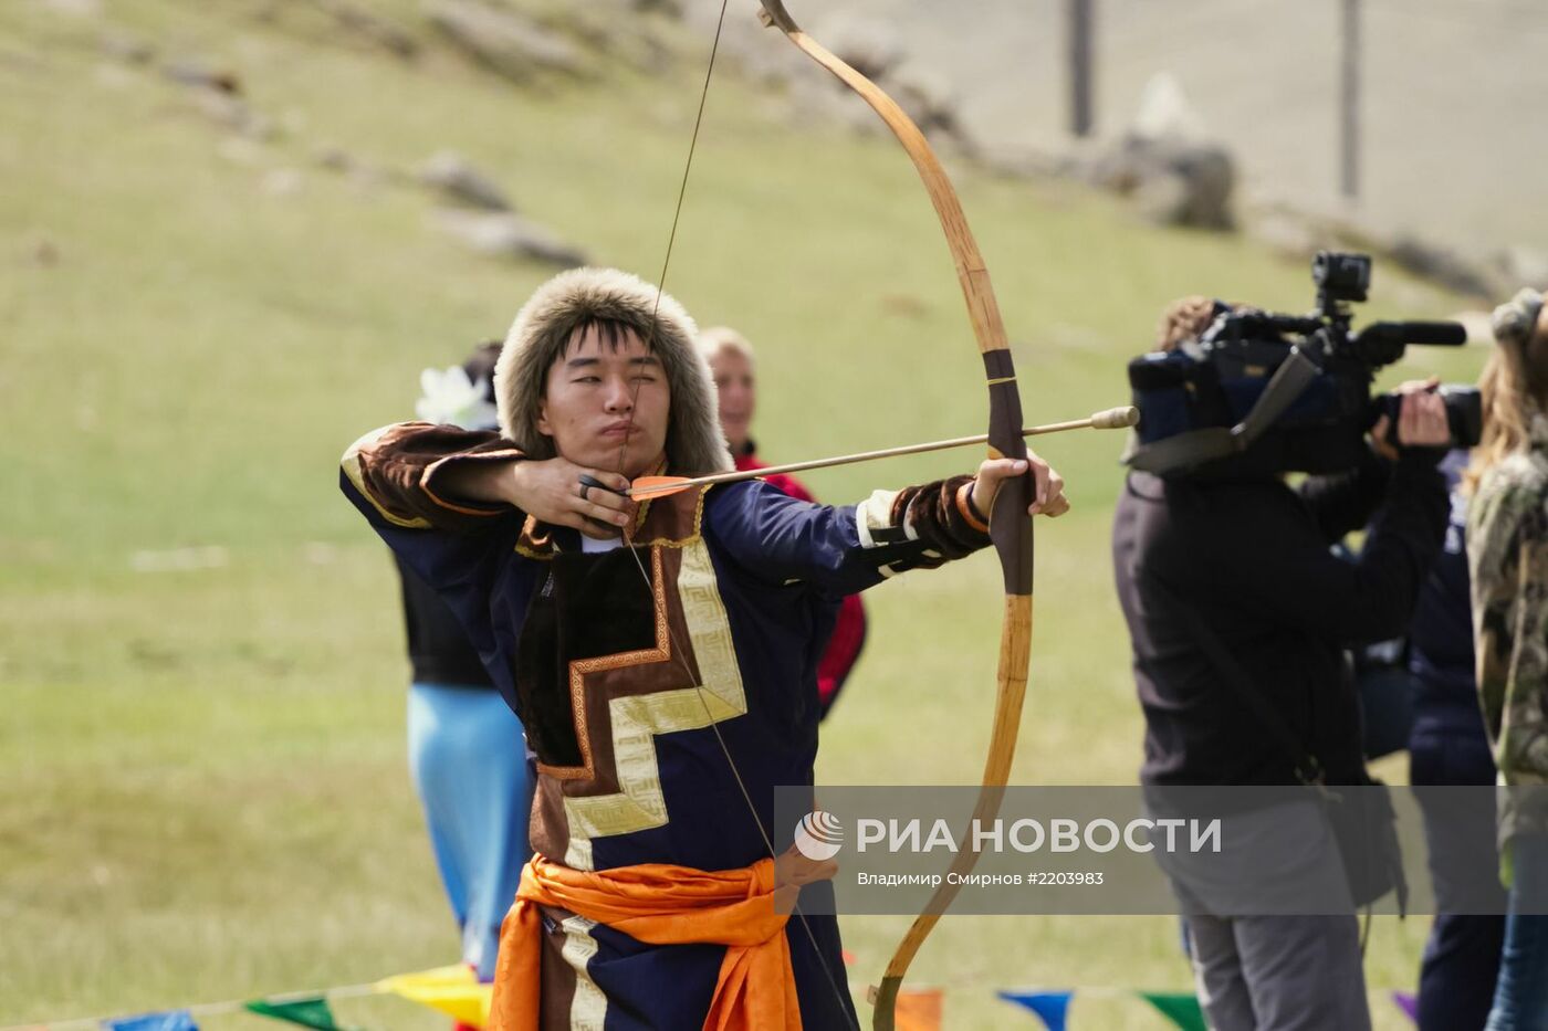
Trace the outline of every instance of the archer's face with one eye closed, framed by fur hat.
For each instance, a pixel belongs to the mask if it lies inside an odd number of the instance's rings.
[[[632,330],[608,341],[593,325],[548,368],[537,429],[559,457],[633,480],[666,452],[670,407],[666,372],[644,342]]]

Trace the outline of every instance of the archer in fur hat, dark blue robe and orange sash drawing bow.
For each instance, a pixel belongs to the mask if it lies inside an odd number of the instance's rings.
[[[858,1026],[836,920],[782,915],[834,867],[789,850],[774,786],[813,783],[839,599],[988,545],[983,512],[1028,472],[844,508],[757,480],[636,505],[636,477],[732,468],[697,336],[633,276],[563,272],[505,342],[500,432],[406,423],[344,455],[344,492],[463,621],[536,757],[491,1028]],[[1028,463],[1031,514],[1067,511]]]

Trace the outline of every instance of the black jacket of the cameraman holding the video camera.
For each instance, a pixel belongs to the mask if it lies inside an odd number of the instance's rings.
[[[1296,783],[1294,760],[1167,598],[1203,618],[1330,783],[1358,782],[1359,706],[1342,649],[1407,629],[1446,529],[1438,457],[1370,455],[1299,491],[1268,477],[1128,475],[1113,565],[1146,712],[1146,783]],[[1358,562],[1328,551],[1367,520]]]

